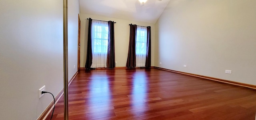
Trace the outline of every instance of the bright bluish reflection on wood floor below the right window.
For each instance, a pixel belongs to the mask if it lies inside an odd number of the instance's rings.
[[[146,110],[147,83],[144,72],[136,72],[133,78],[132,88],[132,111],[139,116]]]

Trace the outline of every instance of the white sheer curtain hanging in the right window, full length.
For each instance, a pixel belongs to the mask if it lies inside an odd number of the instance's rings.
[[[145,67],[147,50],[147,28],[137,26],[136,34],[136,67]]]

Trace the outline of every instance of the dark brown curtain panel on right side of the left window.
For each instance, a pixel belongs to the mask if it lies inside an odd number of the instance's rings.
[[[114,39],[114,22],[108,21],[108,56],[107,67],[115,68],[115,39]]]

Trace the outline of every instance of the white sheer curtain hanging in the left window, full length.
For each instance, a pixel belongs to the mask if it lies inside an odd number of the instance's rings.
[[[107,67],[108,22],[92,20],[92,68]]]

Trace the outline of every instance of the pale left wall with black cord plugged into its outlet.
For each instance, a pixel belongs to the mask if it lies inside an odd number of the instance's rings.
[[[0,116],[36,120],[63,88],[62,0],[0,0]],[[69,64],[76,64],[79,1],[69,2]],[[74,32],[74,33],[72,33]],[[75,33],[76,32],[76,33]],[[75,35],[76,34],[76,35]],[[76,46],[75,46],[76,45]],[[76,48],[77,50],[77,48]],[[74,57],[74,58],[72,58]],[[73,67],[71,67],[73,68]],[[75,70],[69,70],[69,78]]]

